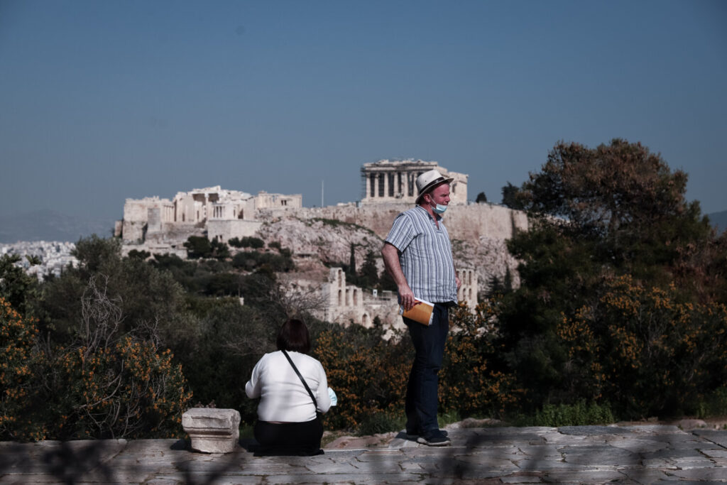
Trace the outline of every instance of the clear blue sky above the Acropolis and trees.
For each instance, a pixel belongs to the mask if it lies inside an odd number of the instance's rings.
[[[614,137],[727,209],[726,1],[0,0],[0,215],[356,201],[383,158],[499,202],[558,140]]]

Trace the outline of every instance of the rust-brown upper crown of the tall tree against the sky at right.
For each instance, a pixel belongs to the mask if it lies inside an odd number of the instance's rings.
[[[523,199],[531,212],[567,220],[563,236],[592,244],[595,260],[666,284],[690,246],[713,236],[699,203],[686,202],[686,179],[640,143],[558,143],[523,184]]]

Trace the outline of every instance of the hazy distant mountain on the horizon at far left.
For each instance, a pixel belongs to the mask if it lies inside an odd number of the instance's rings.
[[[17,241],[69,241],[97,234],[109,237],[113,221],[84,220],[53,210],[0,216],[0,243]]]

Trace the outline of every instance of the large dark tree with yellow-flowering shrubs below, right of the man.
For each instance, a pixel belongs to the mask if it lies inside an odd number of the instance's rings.
[[[526,409],[608,398],[629,416],[671,414],[724,382],[707,335],[722,338],[727,243],[685,184],[624,140],[558,143],[523,184],[531,228],[508,243],[522,285],[497,310],[494,365],[514,374]]]

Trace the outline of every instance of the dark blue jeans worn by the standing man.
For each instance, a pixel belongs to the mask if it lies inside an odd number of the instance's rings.
[[[414,363],[411,364],[406,386],[406,431],[427,434],[439,429],[439,369],[444,356],[444,344],[449,332],[449,308],[435,303],[430,326],[404,318],[414,344]]]

